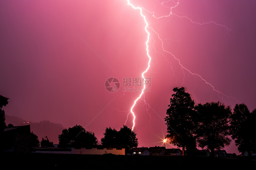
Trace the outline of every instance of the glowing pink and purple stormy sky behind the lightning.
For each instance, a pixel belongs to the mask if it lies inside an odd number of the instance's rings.
[[[196,104],[221,101],[233,109],[242,102],[252,111],[256,103],[256,2],[180,0],[172,15],[159,18],[177,0],[162,2],[131,1],[143,7],[152,58],[146,104],[139,99],[133,109],[139,147],[162,144],[174,87],[185,87]],[[99,140],[106,127],[119,129],[127,120],[132,128],[127,113],[140,92],[124,93],[122,79],[141,77],[149,62],[139,9],[126,0],[10,0],[0,2],[0,22],[7,115],[79,124]],[[109,77],[120,81],[117,92],[104,87]],[[238,153],[234,143],[225,149]]]

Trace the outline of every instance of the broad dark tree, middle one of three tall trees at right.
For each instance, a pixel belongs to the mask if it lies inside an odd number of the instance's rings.
[[[221,149],[224,145],[229,145],[231,139],[229,135],[230,107],[225,107],[220,102],[198,104],[196,137],[199,147],[207,147],[214,156],[214,149]]]

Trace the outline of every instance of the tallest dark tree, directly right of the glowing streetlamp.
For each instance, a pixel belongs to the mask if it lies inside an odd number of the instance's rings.
[[[165,117],[167,125],[167,141],[177,147],[182,147],[182,155],[184,150],[193,150],[196,148],[193,132],[195,129],[194,101],[189,93],[185,92],[185,88],[174,88],[174,94],[170,99],[170,104],[166,111]]]

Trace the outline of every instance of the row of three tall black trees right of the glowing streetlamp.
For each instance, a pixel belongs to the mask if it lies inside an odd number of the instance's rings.
[[[165,117],[167,141],[184,150],[196,146],[211,150],[221,149],[235,139],[239,152],[256,151],[256,110],[236,104],[233,113],[229,106],[218,102],[195,105],[185,88],[174,88]],[[250,155],[250,154],[249,154]]]

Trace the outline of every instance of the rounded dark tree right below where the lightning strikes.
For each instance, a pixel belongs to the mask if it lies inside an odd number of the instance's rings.
[[[115,128],[106,128],[104,137],[101,138],[101,143],[102,145],[125,146],[126,150],[131,150],[134,147],[138,147],[138,138],[134,131],[123,125],[119,131],[115,130]]]

